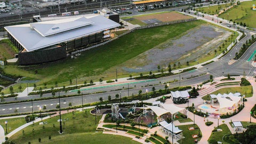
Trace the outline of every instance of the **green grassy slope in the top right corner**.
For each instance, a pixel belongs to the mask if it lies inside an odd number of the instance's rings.
[[[256,11],[251,10],[256,1],[242,2],[238,6],[219,15],[219,18],[233,20],[236,23],[246,23],[247,27],[256,28]]]

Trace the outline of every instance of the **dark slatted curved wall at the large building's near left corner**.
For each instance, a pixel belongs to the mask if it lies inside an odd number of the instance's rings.
[[[66,58],[66,47],[57,47],[50,50],[20,52],[19,65],[35,65]]]

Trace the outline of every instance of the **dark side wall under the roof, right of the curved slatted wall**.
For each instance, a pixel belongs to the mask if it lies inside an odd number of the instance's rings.
[[[76,49],[79,49],[79,47],[84,47],[92,43],[101,42],[102,38],[103,38],[103,31],[94,35],[89,35],[89,36],[74,39],[72,41],[68,41],[67,52],[74,51]]]

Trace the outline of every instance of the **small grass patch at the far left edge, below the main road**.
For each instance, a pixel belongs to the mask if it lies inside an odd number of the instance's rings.
[[[7,121],[7,132],[8,133],[17,129],[21,125],[26,124],[26,121],[25,121],[24,117],[10,118],[10,119],[0,119],[0,125],[4,128],[4,131],[5,131],[5,121]]]

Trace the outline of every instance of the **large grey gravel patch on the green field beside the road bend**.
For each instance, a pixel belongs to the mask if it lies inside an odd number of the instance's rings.
[[[163,66],[164,63],[166,67],[167,63],[178,61],[183,65],[187,61],[194,61],[197,57],[213,52],[230,35],[231,32],[225,29],[201,25],[177,39],[170,39],[129,60],[129,65],[126,65],[129,67],[123,69],[129,73],[139,73],[157,70],[157,66]]]

